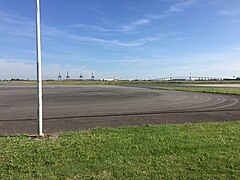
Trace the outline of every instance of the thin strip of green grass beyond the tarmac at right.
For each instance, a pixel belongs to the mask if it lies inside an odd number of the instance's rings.
[[[240,88],[160,87],[159,90],[191,91],[203,93],[240,94]]]

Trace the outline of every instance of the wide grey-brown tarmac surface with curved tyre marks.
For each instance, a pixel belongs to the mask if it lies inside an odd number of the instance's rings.
[[[44,132],[240,120],[240,96],[146,86],[45,85]],[[34,85],[0,84],[0,134],[37,133]]]

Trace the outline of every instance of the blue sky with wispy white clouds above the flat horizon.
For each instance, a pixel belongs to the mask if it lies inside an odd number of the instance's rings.
[[[240,76],[239,0],[40,3],[44,79]],[[0,1],[0,42],[0,79],[35,79],[35,0]]]

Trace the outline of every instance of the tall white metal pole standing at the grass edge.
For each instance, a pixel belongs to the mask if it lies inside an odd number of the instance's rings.
[[[41,59],[41,39],[40,39],[40,3],[36,0],[36,36],[37,36],[37,89],[38,89],[38,136],[43,134],[42,117],[42,59]]]

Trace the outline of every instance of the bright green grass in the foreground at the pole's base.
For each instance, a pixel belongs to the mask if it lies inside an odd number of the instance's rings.
[[[240,122],[0,137],[0,179],[238,179]]]

